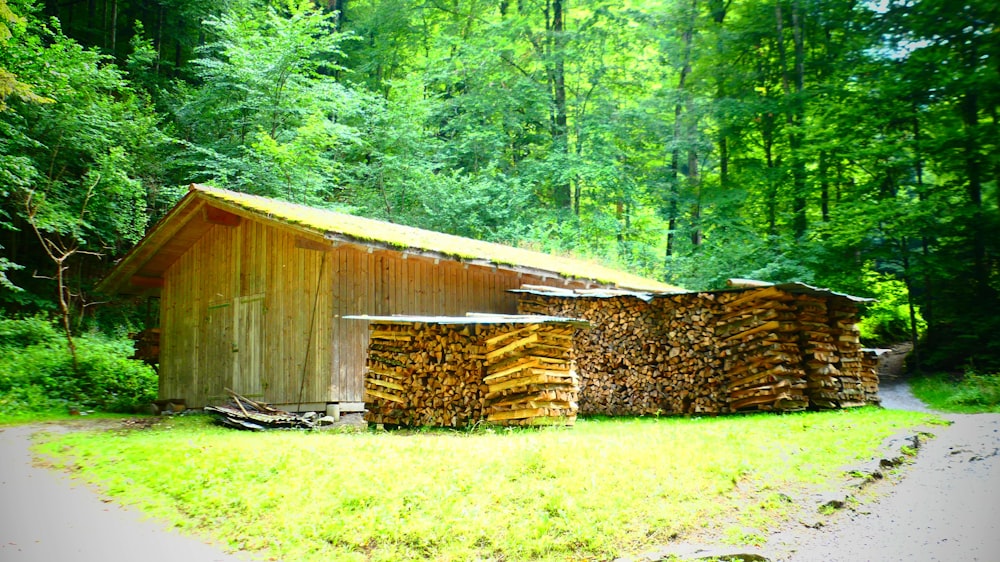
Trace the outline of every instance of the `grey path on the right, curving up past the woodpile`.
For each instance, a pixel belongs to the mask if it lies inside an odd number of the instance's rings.
[[[908,346],[880,371],[886,408],[928,412],[902,370]],[[875,484],[875,499],[819,529],[772,538],[773,560],[792,562],[1000,560],[1000,414],[944,415],[914,463]]]

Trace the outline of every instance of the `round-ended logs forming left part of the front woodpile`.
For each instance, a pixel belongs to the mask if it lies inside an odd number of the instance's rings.
[[[485,417],[477,326],[391,321],[369,327],[368,422],[458,427]]]

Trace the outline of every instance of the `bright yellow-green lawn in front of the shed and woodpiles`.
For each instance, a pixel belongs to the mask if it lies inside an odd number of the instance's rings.
[[[192,416],[54,437],[39,452],[179,528],[284,560],[604,560],[699,533],[759,543],[802,488],[839,481],[927,419],[865,408],[243,433]]]

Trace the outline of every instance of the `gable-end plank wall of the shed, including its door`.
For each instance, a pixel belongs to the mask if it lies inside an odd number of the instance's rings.
[[[317,289],[330,254],[257,222],[209,229],[165,275],[160,396],[202,406],[231,388],[294,403],[301,386],[303,402],[325,402],[333,295]]]

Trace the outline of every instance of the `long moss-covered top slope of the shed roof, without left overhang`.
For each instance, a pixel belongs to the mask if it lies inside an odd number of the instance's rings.
[[[296,225],[330,238],[346,238],[362,244],[384,245],[398,251],[440,254],[442,257],[461,261],[487,262],[500,267],[523,267],[561,277],[592,280],[601,284],[614,284],[629,289],[681,290],[666,283],[588,261],[315,209],[277,199],[247,195],[204,185],[194,184],[191,186],[191,191],[208,199],[228,203],[253,214]]]

